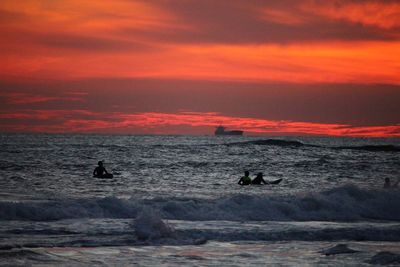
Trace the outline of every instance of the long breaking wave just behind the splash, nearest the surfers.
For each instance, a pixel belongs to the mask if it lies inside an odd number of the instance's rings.
[[[170,220],[229,221],[400,221],[398,190],[345,185],[290,196],[232,195],[217,199],[60,199],[0,202],[0,220],[52,221],[71,218],[136,218],[156,210]]]

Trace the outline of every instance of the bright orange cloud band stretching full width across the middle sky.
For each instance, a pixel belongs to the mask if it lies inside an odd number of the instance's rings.
[[[385,51],[382,53],[380,51]],[[400,84],[400,42],[163,45],[159,51],[8,55],[0,73],[41,79],[155,77],[294,83]]]

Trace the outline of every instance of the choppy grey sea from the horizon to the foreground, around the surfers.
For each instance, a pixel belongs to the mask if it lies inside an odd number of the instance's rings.
[[[400,191],[383,188],[400,178],[399,139],[1,134],[0,145],[0,265],[400,264]],[[114,178],[92,177],[99,160]],[[239,186],[245,170],[282,182]],[[352,253],[326,252],[338,244]]]

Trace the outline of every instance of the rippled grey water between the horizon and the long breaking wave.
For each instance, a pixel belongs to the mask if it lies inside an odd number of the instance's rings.
[[[284,194],[400,177],[399,139],[3,134],[0,143],[3,200],[265,194],[235,186],[244,170],[283,178],[268,193]],[[92,178],[98,160],[115,179]]]

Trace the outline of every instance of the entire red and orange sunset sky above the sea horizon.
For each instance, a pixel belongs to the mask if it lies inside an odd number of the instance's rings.
[[[400,2],[2,0],[0,132],[400,137]]]

